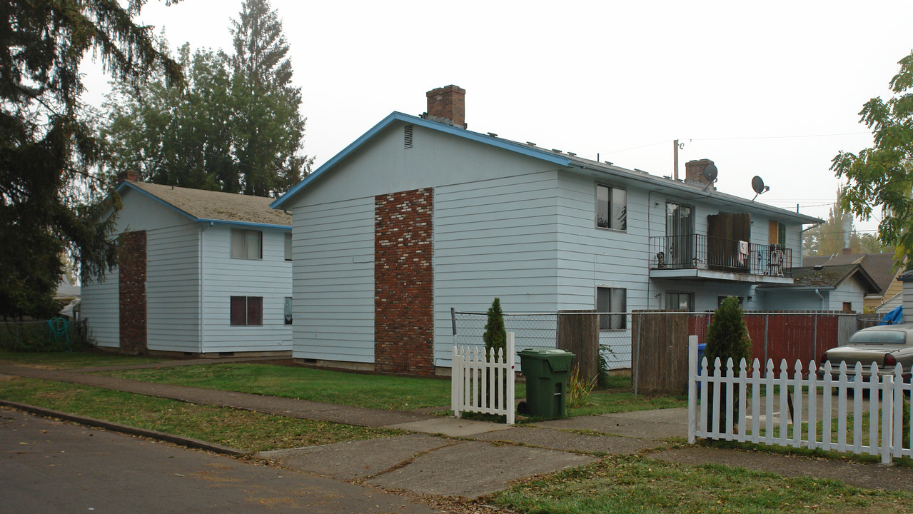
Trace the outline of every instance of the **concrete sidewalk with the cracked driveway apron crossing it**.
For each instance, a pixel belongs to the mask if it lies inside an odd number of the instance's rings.
[[[224,362],[199,361],[196,363]],[[131,369],[137,367],[140,366],[131,366]],[[703,446],[677,447],[670,438],[681,441],[687,437],[687,409],[683,408],[578,416],[535,425],[508,426],[416,412],[321,404],[84,374],[89,371],[100,370],[60,371],[0,365],[0,373],[9,375],[79,383],[194,404],[406,430],[412,434],[261,452],[257,456],[321,477],[419,494],[477,498],[508,488],[511,481],[519,478],[582,466],[606,454],[634,453],[691,465],[719,463],[784,475],[839,477],[847,484],[861,488],[913,490],[913,469],[910,468]],[[850,473],[847,465],[858,468]]]

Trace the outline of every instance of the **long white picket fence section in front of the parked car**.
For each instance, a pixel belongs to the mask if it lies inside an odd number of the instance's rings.
[[[708,438],[822,448],[880,455],[885,464],[891,463],[893,457],[913,456],[909,445],[903,445],[905,421],[908,440],[913,441],[913,419],[903,419],[904,397],[913,392],[913,384],[904,383],[899,364],[893,373],[881,377],[878,367],[872,364],[868,378],[862,377],[863,366],[859,363],[855,376],[847,376],[842,362],[835,378],[829,362],[824,365],[821,378],[815,362],[809,362],[807,369],[811,372],[806,378],[799,361],[795,362],[792,375],[786,361],[781,362],[779,375],[774,372],[772,361],[767,362],[766,374],[761,373],[757,359],[750,368],[744,359],[738,369],[731,359],[726,365],[729,372],[723,373],[717,359],[714,369],[718,372],[708,373],[704,358],[698,375],[698,337],[688,338],[689,443]],[[712,401],[708,395],[712,395]],[[848,398],[850,395],[852,398]],[[726,399],[723,404],[720,396]],[[730,420],[722,430],[720,414]],[[847,416],[852,416],[852,425],[847,424]],[[868,434],[864,437],[866,429]]]

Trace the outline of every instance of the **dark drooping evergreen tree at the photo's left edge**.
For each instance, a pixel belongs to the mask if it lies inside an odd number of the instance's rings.
[[[89,281],[117,262],[114,219],[90,171],[104,159],[91,113],[80,102],[79,64],[91,50],[112,77],[139,84],[152,69],[182,80],[131,19],[145,0],[7,0],[0,5],[0,316],[46,316],[60,256]]]

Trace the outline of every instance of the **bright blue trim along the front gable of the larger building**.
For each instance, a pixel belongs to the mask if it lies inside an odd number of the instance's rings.
[[[502,148],[504,150],[509,150],[510,152],[517,152],[521,155],[526,155],[534,159],[540,159],[542,161],[547,161],[549,163],[558,164],[560,166],[567,166],[571,164],[571,159],[563,157],[561,155],[555,155],[552,152],[545,150],[540,150],[538,148],[533,148],[523,144],[518,144],[515,142],[508,142],[496,137],[492,137],[486,134],[480,134],[478,132],[467,131],[466,129],[458,129],[456,127],[451,127],[450,125],[445,125],[444,123],[438,123],[436,121],[427,121],[423,118],[417,116],[412,116],[409,114],[404,114],[402,112],[391,112],[389,116],[384,118],[382,121],[374,125],[370,131],[364,132],[362,137],[358,138],[352,144],[345,147],[342,152],[337,153],[333,158],[326,163],[323,163],[320,168],[318,168],[314,173],[310,173],[307,177],[304,178],[298,184],[295,184],[294,187],[289,189],[286,194],[279,196],[275,202],[269,206],[278,209],[283,204],[289,201],[290,198],[298,194],[298,192],[310,184],[311,181],[317,179],[321,174],[326,173],[330,170],[336,163],[339,163],[341,160],[349,156],[350,153],[357,150],[365,142],[370,141],[376,136],[380,131],[386,129],[394,121],[404,121],[406,123],[412,123],[413,125],[418,125],[419,127],[425,127],[426,129],[431,129],[433,131],[441,131],[455,136],[465,138],[470,141],[481,142],[484,144],[489,144],[497,148]]]

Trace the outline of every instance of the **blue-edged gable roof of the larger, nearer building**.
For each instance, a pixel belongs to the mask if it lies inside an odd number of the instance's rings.
[[[358,138],[349,146],[345,147],[341,152],[334,155],[329,161],[323,163],[320,168],[306,176],[304,180],[292,187],[289,192],[280,196],[275,202],[270,204],[270,206],[274,209],[281,208],[282,205],[285,205],[291,198],[294,198],[297,194],[299,194],[302,189],[308,187],[309,184],[319,179],[322,175],[330,173],[333,168],[339,165],[339,163],[341,163],[352,152],[355,152],[361,148],[362,145],[373,140],[373,138],[380,132],[384,131],[397,122],[417,125],[419,127],[424,127],[425,129],[440,131],[470,141],[488,144],[508,152],[519,153],[520,155],[525,155],[533,159],[539,159],[540,161],[557,164],[571,170],[577,170],[581,172],[585,170],[596,173],[604,173],[605,175],[610,176],[624,177],[628,180],[647,184],[648,187],[657,192],[689,195],[696,193],[707,194],[706,199],[712,201],[714,204],[723,205],[724,207],[740,208],[748,212],[758,212],[765,215],[770,215],[775,219],[787,219],[803,224],[823,222],[823,220],[814,216],[793,213],[792,211],[781,209],[780,207],[757,203],[745,198],[741,198],[740,196],[719,193],[719,191],[716,190],[704,191],[703,187],[698,187],[692,184],[685,184],[682,181],[667,179],[666,177],[659,177],[638,170],[628,170],[622,168],[621,166],[615,166],[614,164],[600,163],[590,159],[583,159],[581,157],[577,157],[572,153],[565,153],[557,150],[544,150],[540,147],[530,144],[513,142],[490,134],[468,131],[466,129],[446,125],[445,123],[428,121],[424,118],[419,118],[417,116],[412,116],[396,111],[390,113],[389,116],[374,125],[370,131],[362,134],[362,137]]]

